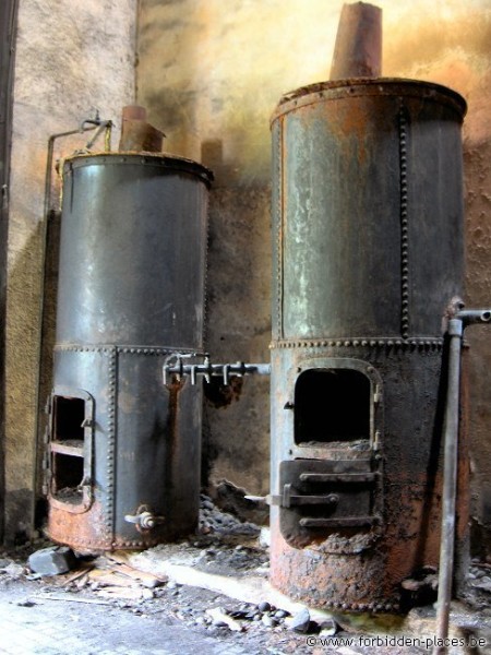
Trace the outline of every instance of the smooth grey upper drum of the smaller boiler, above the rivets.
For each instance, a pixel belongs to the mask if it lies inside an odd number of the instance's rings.
[[[64,164],[58,343],[203,347],[208,182],[178,157]]]

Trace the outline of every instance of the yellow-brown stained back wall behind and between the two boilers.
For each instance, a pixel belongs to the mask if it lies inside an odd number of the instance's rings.
[[[384,74],[440,82],[469,103],[464,138],[467,302],[491,303],[491,8],[488,0],[378,2]],[[326,80],[340,0],[141,0],[137,102],[166,150],[214,168],[208,349],[215,360],[267,361],[270,130],[279,96]],[[475,513],[491,523],[491,347],[469,330]],[[211,481],[268,489],[268,388],[213,389],[206,412]],[[482,536],[482,535],[481,535]]]

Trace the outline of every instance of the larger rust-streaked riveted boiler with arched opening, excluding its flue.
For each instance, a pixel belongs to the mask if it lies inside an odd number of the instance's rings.
[[[404,609],[403,582],[439,563],[465,110],[436,84],[360,78],[272,119],[271,576],[314,606]]]

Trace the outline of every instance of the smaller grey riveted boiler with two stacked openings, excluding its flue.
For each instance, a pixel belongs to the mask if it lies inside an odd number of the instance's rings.
[[[203,349],[211,179],[161,153],[64,163],[48,532],[79,551],[196,526],[201,394],[161,368]]]

